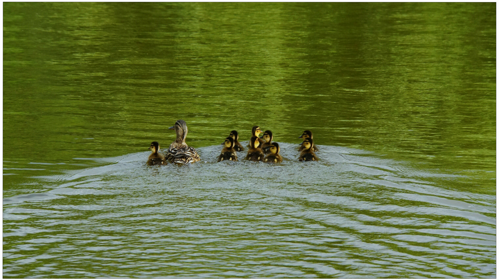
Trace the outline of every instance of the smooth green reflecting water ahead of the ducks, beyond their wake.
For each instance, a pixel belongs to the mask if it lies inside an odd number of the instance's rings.
[[[496,195],[496,4],[3,4],[4,198],[177,119],[194,147],[311,129]]]

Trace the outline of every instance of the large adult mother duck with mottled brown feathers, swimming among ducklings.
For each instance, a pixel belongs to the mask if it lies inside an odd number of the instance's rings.
[[[178,120],[174,126],[168,129],[175,129],[177,139],[170,144],[170,148],[166,151],[166,159],[172,163],[193,163],[200,160],[198,152],[193,147],[186,144],[187,124],[184,120]]]

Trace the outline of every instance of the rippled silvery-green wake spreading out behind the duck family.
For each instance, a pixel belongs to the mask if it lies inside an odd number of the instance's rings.
[[[281,164],[217,163],[221,146],[209,146],[188,166],[148,167],[141,152],[37,176],[45,192],[3,199],[4,274],[29,265],[39,268],[30,277],[110,277],[104,266],[137,277],[495,275],[492,196],[355,149],[320,146],[319,162],[300,163],[295,147],[281,143]]]

